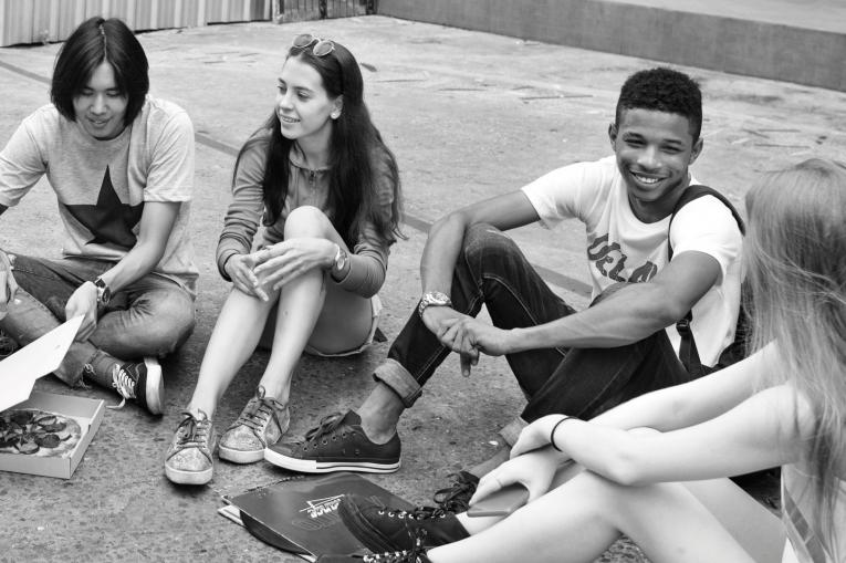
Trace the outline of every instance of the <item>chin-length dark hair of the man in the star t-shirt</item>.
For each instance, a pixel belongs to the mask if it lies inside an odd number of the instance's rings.
[[[117,18],[106,20],[97,15],[71,33],[56,55],[50,98],[62,116],[76,121],[73,98],[85,88],[103,62],[112,65],[117,88],[127,97],[124,125],[129,125],[142,111],[149,91],[149,65],[144,48]]]

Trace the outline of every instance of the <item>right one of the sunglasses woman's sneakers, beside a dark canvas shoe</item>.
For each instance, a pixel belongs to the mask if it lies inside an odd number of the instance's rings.
[[[264,458],[264,448],[278,442],[288,431],[291,413],[259,385],[238,420],[220,438],[218,456],[236,463],[252,463]]]

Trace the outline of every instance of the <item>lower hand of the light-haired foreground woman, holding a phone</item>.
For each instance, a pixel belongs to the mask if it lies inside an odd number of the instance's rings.
[[[561,458],[555,450],[532,451],[510,459],[479,480],[470,499],[470,505],[511,483],[521,483],[529,491],[532,502],[550,490]]]

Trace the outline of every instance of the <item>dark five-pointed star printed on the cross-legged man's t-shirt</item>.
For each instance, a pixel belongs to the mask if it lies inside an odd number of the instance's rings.
[[[62,206],[94,236],[88,244],[114,244],[128,250],[138,240],[133,227],[140,220],[144,202],[130,206],[121,201],[112,185],[108,166],[95,205]]]

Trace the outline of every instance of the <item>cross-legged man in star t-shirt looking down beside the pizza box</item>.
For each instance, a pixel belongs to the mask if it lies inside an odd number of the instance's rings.
[[[53,103],[0,153],[0,213],[46,176],[64,226],[62,258],[0,250],[0,327],[25,345],[83,315],[56,376],[114,387],[160,414],[156,357],[195,322],[194,128],[148,90],[144,49],[121,20],[92,18],[62,45]]]

